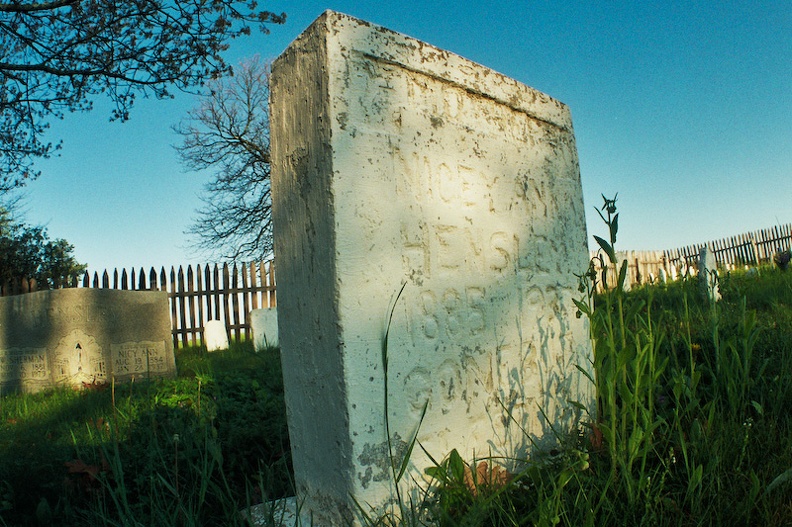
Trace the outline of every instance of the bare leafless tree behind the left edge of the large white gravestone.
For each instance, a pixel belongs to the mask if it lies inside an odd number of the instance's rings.
[[[195,247],[228,260],[272,255],[269,64],[243,62],[176,127],[176,147],[192,170],[213,170],[204,207],[188,234]]]

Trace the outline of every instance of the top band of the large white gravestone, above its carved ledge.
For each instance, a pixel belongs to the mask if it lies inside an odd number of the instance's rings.
[[[569,108],[562,102],[511,77],[413,37],[338,11],[322,13],[281,57],[317,32],[338,41],[341,54],[359,53],[490,98],[565,131],[572,131]],[[279,57],[280,58],[280,57]],[[277,59],[276,59],[277,62]]]

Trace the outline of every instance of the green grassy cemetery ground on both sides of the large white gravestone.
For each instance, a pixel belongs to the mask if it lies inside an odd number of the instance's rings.
[[[792,524],[792,272],[734,271],[720,291],[716,304],[695,279],[582,292],[598,419],[508,477],[497,459],[430,452],[433,487],[394,513],[443,526]],[[293,492],[277,350],[232,348],[178,350],[175,380],[3,396],[0,524],[244,525],[247,504]]]

